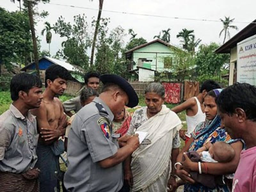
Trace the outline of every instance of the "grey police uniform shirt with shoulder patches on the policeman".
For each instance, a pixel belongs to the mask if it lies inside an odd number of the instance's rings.
[[[119,146],[111,135],[114,115],[98,97],[82,108],[68,135],[68,170],[64,185],[73,192],[116,192],[123,186],[122,164],[102,168],[99,161],[113,156]]]

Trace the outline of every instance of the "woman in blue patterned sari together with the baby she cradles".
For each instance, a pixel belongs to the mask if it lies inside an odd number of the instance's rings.
[[[199,183],[200,180],[197,180],[201,176],[200,174],[211,174],[217,177],[219,175],[234,173],[240,159],[240,152],[243,148],[243,143],[240,140],[232,140],[221,126],[221,119],[217,114],[217,105],[215,102],[215,99],[220,92],[221,89],[214,89],[208,92],[205,96],[204,112],[206,121],[201,122],[196,126],[196,129],[191,134],[190,140],[177,157],[178,163],[175,164],[177,168],[176,172],[183,182],[186,183],[184,185],[184,191],[229,191],[226,183],[222,183],[222,185],[216,184],[215,188],[208,188]],[[221,143],[216,143],[214,146],[214,143],[218,141],[224,141],[230,144],[232,148],[228,148],[229,146],[225,147],[224,145],[221,145]],[[220,147],[223,147],[223,149],[220,150]],[[188,157],[190,154],[184,154],[186,151],[189,151],[189,153],[191,153],[191,151],[194,151],[194,153],[197,151],[199,154],[199,162],[191,161],[191,158]],[[202,153],[203,151],[208,152]],[[206,156],[206,159],[212,159],[212,161],[205,160],[201,163],[203,155]],[[198,177],[194,177],[193,179],[193,174],[190,173],[195,172]],[[195,181],[195,178],[197,182]],[[230,175],[228,178],[230,178]],[[224,180],[226,180],[225,176],[223,176],[222,181]],[[214,182],[214,180],[212,182]],[[175,188],[172,188],[172,191],[174,190]]]

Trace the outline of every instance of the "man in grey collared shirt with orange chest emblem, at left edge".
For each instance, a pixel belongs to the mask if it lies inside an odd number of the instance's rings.
[[[29,109],[41,104],[42,82],[21,73],[13,76],[10,88],[13,102],[0,116],[0,191],[39,192],[39,170],[34,168],[38,133]]]

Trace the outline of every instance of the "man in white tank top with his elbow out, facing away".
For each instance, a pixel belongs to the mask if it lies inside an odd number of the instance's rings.
[[[205,120],[204,114],[204,97],[207,92],[212,89],[219,89],[220,85],[213,80],[206,80],[200,89],[200,93],[196,97],[189,98],[180,105],[172,108],[175,113],[180,113],[186,110],[186,122],[188,130],[180,130],[180,137],[187,143],[190,139],[190,134],[194,131],[196,125]]]

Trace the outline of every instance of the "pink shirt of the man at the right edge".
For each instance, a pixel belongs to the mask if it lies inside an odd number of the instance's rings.
[[[241,152],[232,188],[232,192],[256,191],[256,147]]]

